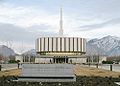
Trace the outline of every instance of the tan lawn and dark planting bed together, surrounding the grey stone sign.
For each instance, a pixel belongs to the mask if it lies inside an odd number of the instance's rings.
[[[76,82],[13,82],[17,79],[21,69],[0,72],[0,86],[118,86],[114,82],[120,82],[120,72],[113,72],[97,68],[76,65],[74,73]]]

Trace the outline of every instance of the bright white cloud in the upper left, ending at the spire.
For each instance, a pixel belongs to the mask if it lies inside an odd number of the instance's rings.
[[[32,6],[0,5],[0,22],[11,23],[21,27],[30,27],[36,24],[47,24],[57,27],[58,16],[48,11]]]

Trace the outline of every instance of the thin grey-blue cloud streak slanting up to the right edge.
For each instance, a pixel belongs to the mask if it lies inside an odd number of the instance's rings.
[[[116,25],[116,24],[120,24],[120,18],[111,19],[111,20],[108,20],[106,22],[99,23],[99,24],[80,26],[79,30],[80,31],[89,31],[89,30],[99,29],[99,28],[103,28],[106,26]]]

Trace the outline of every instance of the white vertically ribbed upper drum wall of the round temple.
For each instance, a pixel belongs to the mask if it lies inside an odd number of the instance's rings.
[[[86,52],[86,40],[84,38],[41,37],[36,42],[37,52]]]

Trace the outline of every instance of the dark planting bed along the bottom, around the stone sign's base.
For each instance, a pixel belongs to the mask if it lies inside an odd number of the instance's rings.
[[[77,76],[76,82],[19,82],[16,76],[0,77],[0,86],[118,86],[120,77]]]

